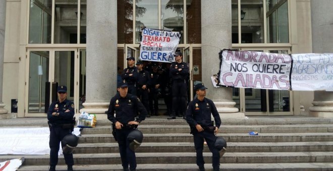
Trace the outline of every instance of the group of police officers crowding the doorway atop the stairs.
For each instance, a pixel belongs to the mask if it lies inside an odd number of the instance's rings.
[[[163,98],[168,119],[176,119],[176,114],[185,119],[189,66],[182,61],[181,52],[175,58],[176,62],[166,64],[138,60],[136,66],[134,57],[127,58],[121,78],[128,83],[128,92],[141,100],[147,117],[158,115],[158,99]]]

